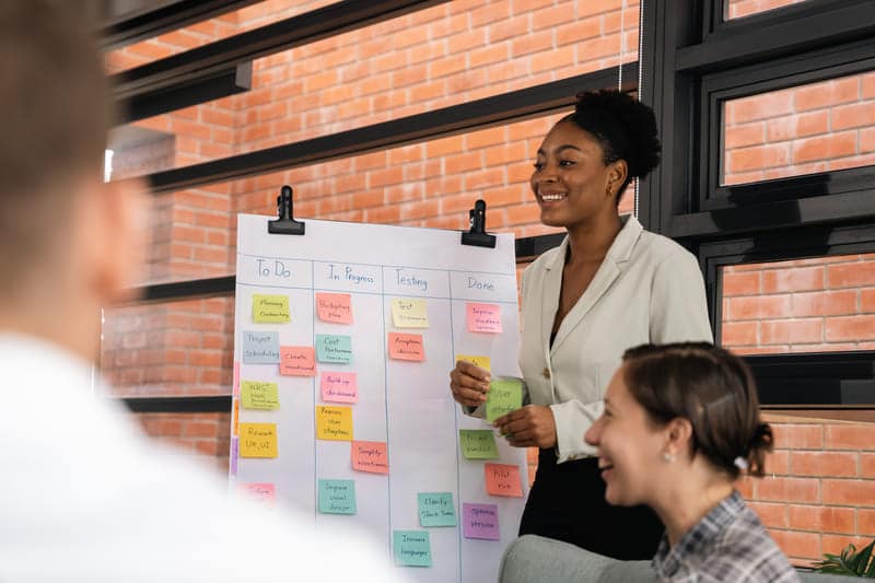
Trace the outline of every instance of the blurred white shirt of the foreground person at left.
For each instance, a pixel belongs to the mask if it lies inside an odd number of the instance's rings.
[[[62,323],[59,323],[62,325]],[[406,581],[388,544],[228,493],[91,395],[88,363],[0,334],[0,581]]]

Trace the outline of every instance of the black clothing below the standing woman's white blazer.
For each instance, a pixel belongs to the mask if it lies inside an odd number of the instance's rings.
[[[594,457],[556,463],[540,450],[520,535],[540,535],[621,560],[652,559],[664,527],[648,506],[611,506]]]

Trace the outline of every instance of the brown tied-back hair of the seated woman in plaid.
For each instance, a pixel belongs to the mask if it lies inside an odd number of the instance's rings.
[[[623,362],[629,392],[654,423],[690,421],[693,455],[733,479],[739,466],[763,475],[772,430],[760,420],[757,386],[742,359],[709,343],[681,342],[630,348]]]

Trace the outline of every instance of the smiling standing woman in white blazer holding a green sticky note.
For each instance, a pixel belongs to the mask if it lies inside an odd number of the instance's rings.
[[[605,502],[596,450],[583,434],[602,415],[626,349],[712,338],[696,258],[617,210],[631,179],[658,162],[653,110],[618,91],[582,94],[544,138],[532,190],[541,222],[568,236],[523,273],[527,405],[494,422],[511,445],[539,448],[520,534],[618,559],[652,557],[662,525],[650,509]],[[478,415],[489,373],[459,361],[450,376],[455,400]]]

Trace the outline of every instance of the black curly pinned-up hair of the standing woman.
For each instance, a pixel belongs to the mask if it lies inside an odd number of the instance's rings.
[[[617,203],[632,178],[644,178],[660,163],[662,145],[656,116],[653,109],[627,93],[617,90],[579,93],[574,113],[562,118],[564,120],[573,121],[598,141],[606,165],[626,161],[629,170],[617,190]]]

